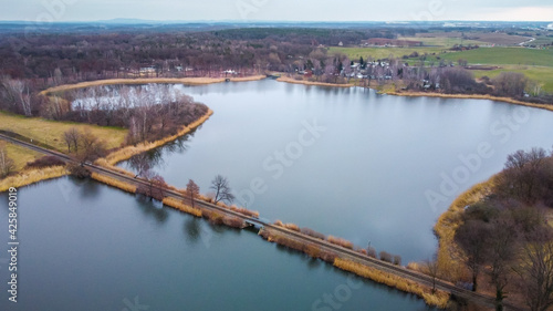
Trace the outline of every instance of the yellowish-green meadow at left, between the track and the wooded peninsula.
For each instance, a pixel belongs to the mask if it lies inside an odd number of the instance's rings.
[[[66,152],[63,132],[71,127],[81,131],[90,129],[94,135],[106,142],[107,148],[119,147],[127,135],[127,129],[101,127],[88,124],[49,121],[40,117],[24,117],[0,112],[0,129],[10,131]]]

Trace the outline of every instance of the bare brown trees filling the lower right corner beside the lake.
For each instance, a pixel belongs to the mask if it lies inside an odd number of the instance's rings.
[[[472,290],[519,293],[531,310],[553,305],[553,153],[509,155],[491,194],[468,206],[455,234]],[[469,277],[470,276],[470,277]]]

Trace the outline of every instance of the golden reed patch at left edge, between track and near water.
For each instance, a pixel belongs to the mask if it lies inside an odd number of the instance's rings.
[[[7,191],[10,187],[23,187],[42,180],[53,179],[67,175],[65,166],[52,166],[45,168],[29,169],[18,175],[8,176],[0,180],[0,193]]]

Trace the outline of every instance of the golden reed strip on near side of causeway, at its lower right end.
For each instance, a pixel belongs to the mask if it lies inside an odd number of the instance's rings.
[[[421,286],[415,281],[407,280],[390,273],[379,271],[377,269],[342,259],[336,258],[334,260],[334,266],[342,270],[353,272],[359,277],[373,280],[375,282],[386,284],[390,288],[398,289],[404,292],[414,293],[425,300],[428,305],[438,307],[445,309],[449,301],[449,293],[444,291],[431,292],[431,288]]]

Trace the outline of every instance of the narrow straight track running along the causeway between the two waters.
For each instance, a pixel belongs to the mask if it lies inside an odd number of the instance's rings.
[[[59,153],[59,152],[43,148],[43,147],[36,146],[34,144],[28,143],[28,142],[15,139],[15,138],[7,136],[4,134],[0,134],[0,138],[4,139],[7,142],[27,147],[29,149],[33,149],[35,152],[45,154],[45,155],[56,156],[56,157],[59,157],[65,162],[69,162],[69,163],[76,163],[76,160],[74,158],[72,158],[71,156],[67,156],[67,155]],[[85,164],[84,166],[86,168],[88,168],[91,172],[94,172],[96,174],[102,174],[102,175],[118,179],[121,182],[125,182],[125,183],[136,185],[136,186],[138,186],[138,185],[149,186],[149,184],[146,180],[133,178],[133,177],[129,177],[127,175],[107,169],[107,168],[102,167],[102,166],[97,166],[97,165],[93,165],[93,164]],[[164,191],[165,191],[166,196],[168,196],[168,197],[173,197],[173,198],[176,198],[179,200],[185,200],[185,199],[189,200],[189,198],[185,198],[182,196],[182,194],[180,194],[178,191],[175,191],[175,190],[164,190]],[[275,226],[273,224],[260,220],[258,218],[248,217],[248,216],[244,216],[240,212],[236,212],[236,211],[232,211],[232,210],[229,210],[229,209],[226,209],[226,208],[222,208],[220,206],[209,204],[209,203],[206,203],[202,200],[196,200],[196,206],[199,206],[199,207],[205,208],[207,210],[217,211],[219,214],[223,214],[227,216],[238,217],[238,218],[240,218],[244,221],[248,221],[250,224],[255,224],[255,225],[261,226],[268,230],[279,232],[280,235],[283,235],[288,238],[292,238],[292,239],[295,239],[295,240],[299,240],[302,242],[312,243],[312,245],[320,247],[323,250],[335,252],[343,259],[348,259],[348,260],[378,269],[378,270],[384,271],[384,272],[388,272],[388,273],[392,273],[392,274],[395,274],[395,276],[398,276],[398,277],[401,277],[401,278],[405,278],[408,280],[413,280],[415,282],[428,286],[430,288],[432,287],[432,278],[430,278],[429,276],[426,276],[426,274],[422,274],[422,273],[419,273],[419,272],[416,272],[413,270],[408,270],[408,269],[400,267],[400,266],[395,266],[395,265],[384,262],[384,261],[375,259],[375,258],[364,256],[364,255],[356,252],[354,250],[333,245],[326,240],[316,239],[316,238],[313,238],[311,236],[300,234],[298,231],[289,230],[286,228]],[[444,281],[444,280],[436,280],[436,288],[439,290],[446,291],[446,292],[450,292],[457,297],[474,301],[474,302],[482,304],[482,305],[486,305],[486,307],[493,308],[495,305],[494,304],[495,298],[493,298],[493,297],[476,293],[476,292],[456,287],[452,283]],[[524,309],[520,309],[519,307],[512,305],[512,304],[507,303],[507,302],[504,302],[503,305],[505,307],[504,310],[524,310]]]

